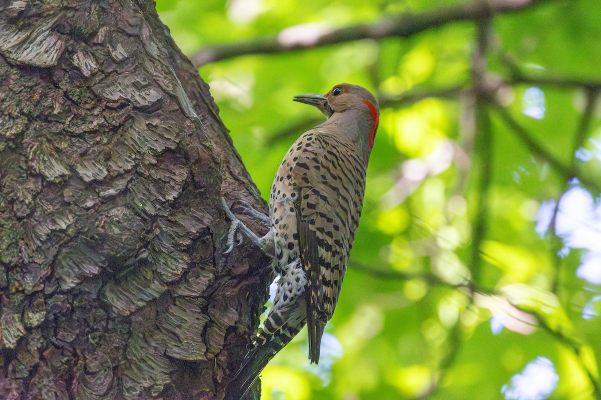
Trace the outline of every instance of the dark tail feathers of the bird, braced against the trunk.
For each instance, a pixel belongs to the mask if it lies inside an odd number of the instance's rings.
[[[258,400],[258,390],[249,390],[257,380],[269,360],[284,347],[278,341],[268,341],[265,344],[248,351],[234,379],[228,383],[224,400]]]

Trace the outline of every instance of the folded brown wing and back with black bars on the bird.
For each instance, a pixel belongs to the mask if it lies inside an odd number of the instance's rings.
[[[365,174],[349,166],[331,138],[316,131],[294,165],[297,232],[307,273],[307,327],[311,362],[319,360],[326,323],[336,308],[350,247],[361,214]],[[359,176],[358,176],[359,175]]]

